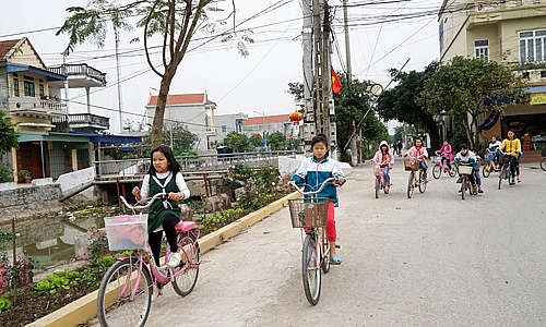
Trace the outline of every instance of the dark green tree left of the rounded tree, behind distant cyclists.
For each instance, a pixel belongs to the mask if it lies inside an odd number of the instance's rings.
[[[385,90],[378,100],[377,111],[385,120],[397,120],[415,125],[417,130],[425,130],[430,134],[431,146],[440,146],[440,135],[434,114],[425,108],[417,98],[424,89],[424,83],[437,70],[439,63],[432,61],[425,71],[410,71],[408,73],[396,69],[389,70],[391,78],[399,84]]]

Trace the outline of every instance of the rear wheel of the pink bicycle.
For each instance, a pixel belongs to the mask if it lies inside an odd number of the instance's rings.
[[[199,243],[192,232],[185,232],[178,240],[178,251],[181,254],[180,265],[173,274],[173,288],[180,296],[186,296],[195,287],[199,276]]]

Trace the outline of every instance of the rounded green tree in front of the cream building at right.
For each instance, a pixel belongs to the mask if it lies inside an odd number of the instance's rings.
[[[473,148],[479,144],[478,117],[524,100],[521,86],[521,78],[501,63],[454,57],[425,81],[419,102],[431,114],[451,114]]]

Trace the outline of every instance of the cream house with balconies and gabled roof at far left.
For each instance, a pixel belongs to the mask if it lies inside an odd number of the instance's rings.
[[[15,179],[19,170],[31,171],[33,179],[56,179],[91,166],[90,136],[81,132],[108,129],[109,119],[91,109],[70,113],[66,93],[85,87],[88,95],[90,87],[105,85],[105,74],[86,64],[48,69],[26,37],[0,41],[0,110],[20,134],[19,148],[3,159],[14,168]]]

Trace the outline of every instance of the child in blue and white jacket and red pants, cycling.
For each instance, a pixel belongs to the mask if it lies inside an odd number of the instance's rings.
[[[334,178],[332,184],[328,184],[318,194],[319,197],[328,197],[330,199],[328,208],[327,234],[330,242],[330,263],[340,265],[342,258],[335,254],[335,241],[337,240],[337,231],[334,220],[334,206],[337,206],[337,189],[335,184],[345,183],[345,174],[343,173],[340,162],[331,159],[328,156],[329,142],[324,134],[318,134],[311,140],[312,156],[305,158],[299,166],[298,171],[292,177],[290,181],[296,184],[305,184],[305,192],[316,191],[322,182],[329,178]]]

